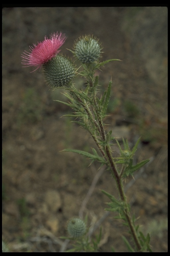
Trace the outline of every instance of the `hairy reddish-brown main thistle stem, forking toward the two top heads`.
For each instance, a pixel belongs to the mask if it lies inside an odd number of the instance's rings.
[[[123,189],[122,174],[119,175],[119,172],[116,168],[116,165],[112,157],[110,144],[107,141],[107,137],[104,130],[104,124],[103,124],[103,120],[100,112],[100,107],[97,104],[97,100],[96,100],[96,91],[95,91],[95,88],[93,87],[93,80],[94,79],[91,76],[87,77],[87,81],[91,88],[91,91],[89,92],[90,93],[89,102],[92,110],[89,108],[86,100],[81,98],[81,96],[78,93],[76,93],[76,90],[73,90],[70,93],[73,96],[73,98],[79,102],[79,104],[84,108],[85,112],[87,113],[87,116],[89,119],[88,121],[90,125],[87,124],[85,127],[91,134],[92,138],[94,139],[102,156],[105,158],[106,163],[108,163],[108,166],[110,166],[110,171],[113,177],[115,178],[121,201],[124,202],[124,205],[125,205],[125,208],[124,208],[125,218],[127,220],[127,223],[128,223],[130,232],[132,234],[134,243],[137,247],[137,250],[140,251],[141,245],[138,240],[137,233],[130,216],[127,198]],[[92,130],[91,130],[91,127],[93,127]],[[100,137],[100,139],[98,138],[98,136]],[[102,141],[102,144],[101,144],[101,141]]]

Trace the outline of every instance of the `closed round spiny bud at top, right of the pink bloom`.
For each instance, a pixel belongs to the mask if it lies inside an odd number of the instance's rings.
[[[75,42],[74,49],[74,54],[79,61],[93,63],[99,60],[102,48],[97,38],[86,35]]]

